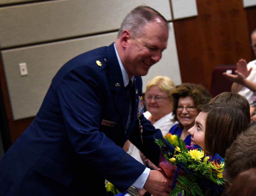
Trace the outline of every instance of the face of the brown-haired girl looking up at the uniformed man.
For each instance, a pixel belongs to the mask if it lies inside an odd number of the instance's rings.
[[[205,151],[205,128],[207,113],[200,112],[195,120],[195,125],[188,130],[191,135],[191,146],[197,144]]]

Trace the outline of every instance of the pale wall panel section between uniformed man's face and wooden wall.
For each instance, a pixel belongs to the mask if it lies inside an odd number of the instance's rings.
[[[146,76],[142,77],[142,80],[143,80],[142,92],[146,92],[147,83],[157,75],[170,77],[175,83],[175,85],[179,85],[182,82],[181,76],[180,76],[178,53],[176,48],[175,34],[174,34],[174,28],[173,28],[172,22],[170,22],[170,31],[169,31],[167,49],[164,50],[162,59],[160,59],[158,63],[156,63],[150,68]]]

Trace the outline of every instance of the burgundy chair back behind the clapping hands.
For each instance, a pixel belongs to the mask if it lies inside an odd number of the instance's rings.
[[[236,70],[236,64],[218,65],[212,71],[210,89],[210,94],[212,98],[220,93],[231,91],[231,85],[233,82],[231,82],[224,75],[222,75],[222,73],[226,72],[227,70],[232,70],[232,74],[234,74],[234,71]]]

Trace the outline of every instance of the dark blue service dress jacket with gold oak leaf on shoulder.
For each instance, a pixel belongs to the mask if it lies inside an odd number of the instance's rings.
[[[142,174],[145,165],[123,149],[130,139],[155,164],[161,131],[141,117],[141,77],[132,89],[131,125],[123,77],[113,44],[68,61],[53,78],[31,125],[0,162],[1,196],[107,195],[104,181],[121,192]]]

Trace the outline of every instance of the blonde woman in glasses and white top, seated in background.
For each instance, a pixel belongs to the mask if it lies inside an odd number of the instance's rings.
[[[146,100],[147,111],[143,114],[155,128],[161,130],[163,135],[168,133],[170,127],[177,123],[172,121],[171,93],[174,89],[175,84],[173,80],[167,76],[155,76],[146,85],[144,99]],[[124,149],[137,161],[148,165],[148,160],[143,162],[138,148],[129,140],[125,142]],[[156,167],[152,162],[149,165]]]

